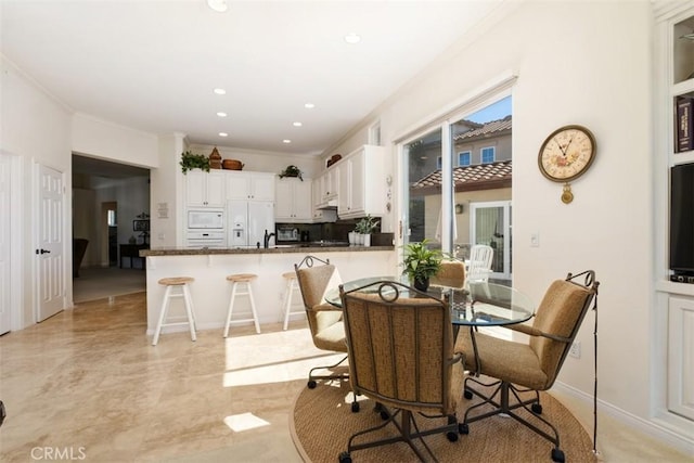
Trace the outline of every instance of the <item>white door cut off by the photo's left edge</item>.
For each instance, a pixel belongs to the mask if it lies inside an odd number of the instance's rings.
[[[0,154],[0,334],[10,331],[10,156]]]

